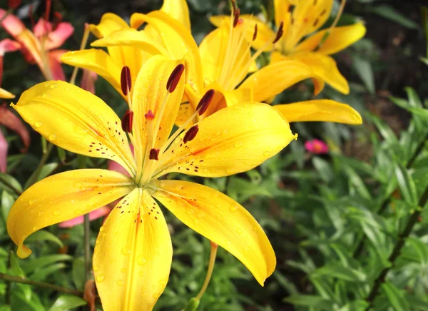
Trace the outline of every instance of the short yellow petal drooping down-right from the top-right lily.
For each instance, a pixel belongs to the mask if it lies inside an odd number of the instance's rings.
[[[340,93],[350,93],[350,86],[346,78],[342,76],[342,73],[337,68],[336,61],[330,56],[315,52],[302,52],[295,53],[292,57],[306,63],[320,78],[330,84],[332,88],[340,91]]]

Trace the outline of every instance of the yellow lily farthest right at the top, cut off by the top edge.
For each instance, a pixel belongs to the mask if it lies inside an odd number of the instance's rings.
[[[274,0],[275,26],[279,28],[282,24],[284,32],[276,44],[265,44],[265,40],[274,34],[269,24],[252,15],[243,15],[240,19],[251,25],[246,39],[253,47],[272,51],[272,63],[287,59],[302,61],[330,86],[347,94],[350,88],[346,78],[329,55],[360,40],[366,29],[362,23],[357,23],[317,31],[330,16],[332,4],[333,0]],[[223,21],[228,21],[228,16],[212,16],[210,21],[220,26]],[[252,41],[252,29],[256,24],[260,36]],[[327,32],[330,34],[325,39]]]

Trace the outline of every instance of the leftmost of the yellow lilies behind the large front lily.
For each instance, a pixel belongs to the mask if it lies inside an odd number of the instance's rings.
[[[150,25],[146,26],[142,31],[137,31],[136,29],[141,25],[138,23],[143,23],[143,19],[147,19]],[[165,29],[162,24],[170,24],[171,22],[173,22],[175,28],[173,29],[173,34],[168,35],[168,38],[173,40],[164,44],[163,35],[160,36],[158,31],[162,33]],[[152,26],[155,23],[160,26]],[[131,25],[128,25],[126,21],[116,14],[106,13],[102,16],[99,24],[90,25],[90,30],[98,38],[91,46],[107,47],[108,53],[101,49],[71,51],[63,54],[61,61],[71,66],[94,71],[105,78],[119,93],[121,93],[119,77],[122,67],[128,66],[131,69],[131,76],[134,78],[133,82],[135,82],[143,63],[155,54],[163,54],[173,59],[186,58],[188,60],[188,74],[195,72],[195,76],[197,76],[198,72],[193,71],[191,68],[191,64],[195,63],[195,61],[191,60],[193,57],[191,48],[186,48],[181,42],[178,46],[177,40],[174,40],[177,37],[177,32],[181,32],[188,33],[188,36],[193,41],[190,34],[188,5],[185,0],[164,0],[163,6],[159,11],[146,15],[133,14],[131,16]],[[125,34],[125,36],[121,36],[121,34]],[[130,46],[137,37],[139,46]],[[108,44],[110,41],[113,43]],[[141,46],[144,46],[144,49],[141,49]],[[195,51],[197,49],[196,46]],[[185,56],[187,50],[190,53]],[[195,78],[195,81],[198,83],[198,78]],[[131,89],[132,92],[133,89]]]

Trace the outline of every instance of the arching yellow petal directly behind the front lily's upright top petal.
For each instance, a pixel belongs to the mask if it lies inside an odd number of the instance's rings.
[[[153,11],[147,15],[135,13],[131,16],[131,26],[135,29],[145,22],[156,29],[171,58],[185,59],[186,81],[195,91],[200,92],[203,89],[202,65],[198,46],[190,31],[163,11]]]

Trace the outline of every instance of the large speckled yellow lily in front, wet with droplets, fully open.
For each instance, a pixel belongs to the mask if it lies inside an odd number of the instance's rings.
[[[156,200],[235,255],[260,285],[275,269],[269,240],[243,206],[204,185],[161,177],[170,172],[200,177],[240,173],[263,163],[296,136],[280,113],[255,102],[224,108],[170,136],[185,88],[183,68],[183,60],[153,56],[138,73],[131,100],[131,76],[125,67],[121,81],[130,110],[122,121],[100,98],[63,81],[40,83],[12,105],[57,146],[115,160],[131,176],[101,169],[52,175],[22,194],[7,220],[17,254],[26,258],[31,250],[24,240],[34,231],[123,197],[101,227],[93,255],[104,310],[151,310],[166,286],[173,250]],[[208,91],[197,113],[211,98],[213,91]]]

